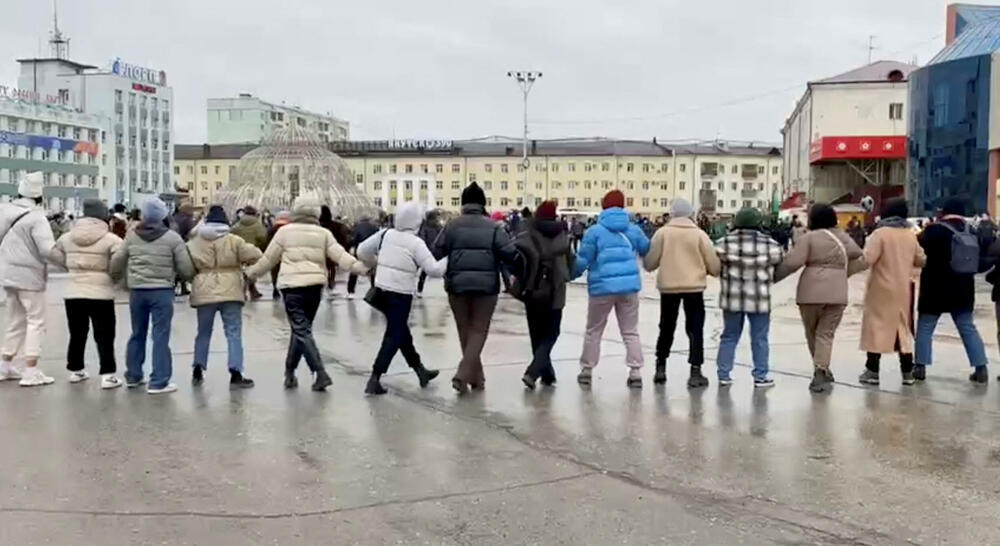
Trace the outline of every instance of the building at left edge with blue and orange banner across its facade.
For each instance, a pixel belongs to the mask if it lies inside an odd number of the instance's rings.
[[[21,176],[43,173],[44,205],[79,212],[83,199],[109,185],[97,116],[60,103],[58,96],[0,86],[0,201],[17,195]]]

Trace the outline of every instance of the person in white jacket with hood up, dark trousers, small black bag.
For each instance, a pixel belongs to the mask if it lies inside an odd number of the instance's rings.
[[[426,387],[438,375],[438,370],[428,370],[420,362],[407,324],[420,271],[431,277],[441,277],[448,268],[448,259],[435,260],[427,244],[417,235],[423,219],[424,211],[419,203],[405,203],[396,209],[395,228],[372,235],[358,247],[358,259],[366,265],[376,266],[375,287],[380,292],[372,303],[386,318],[382,347],[365,387],[367,394],[386,393],[380,379],[389,370],[396,351],[403,352],[421,387]]]

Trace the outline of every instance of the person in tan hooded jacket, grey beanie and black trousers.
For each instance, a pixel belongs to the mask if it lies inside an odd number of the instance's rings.
[[[667,381],[667,358],[683,303],[684,329],[690,345],[688,387],[699,388],[708,385],[708,379],[701,373],[701,365],[705,362],[706,277],[719,276],[722,264],[712,240],[691,220],[693,214],[694,207],[686,199],[678,197],[671,202],[670,222],[653,234],[643,265],[646,271],[659,270],[656,287],[660,290],[660,335],[656,339],[653,383]]]

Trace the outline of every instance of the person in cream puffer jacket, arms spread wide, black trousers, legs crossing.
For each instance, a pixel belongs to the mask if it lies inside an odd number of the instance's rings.
[[[313,319],[326,286],[326,260],[356,275],[368,272],[364,264],[337,244],[329,230],[319,225],[319,212],[320,203],[315,197],[296,199],[292,206],[292,222],[275,232],[264,257],[246,271],[247,277],[253,279],[281,264],[277,287],[281,290],[292,330],[285,359],[287,389],[298,387],[295,368],[303,356],[316,375],[314,391],[326,390],[332,384],[312,335]]]

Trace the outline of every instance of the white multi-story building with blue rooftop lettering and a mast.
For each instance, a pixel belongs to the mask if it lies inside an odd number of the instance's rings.
[[[59,97],[101,120],[101,166],[109,203],[140,204],[173,194],[173,90],[166,73],[113,59],[106,70],[64,58],[19,59],[18,87]]]

